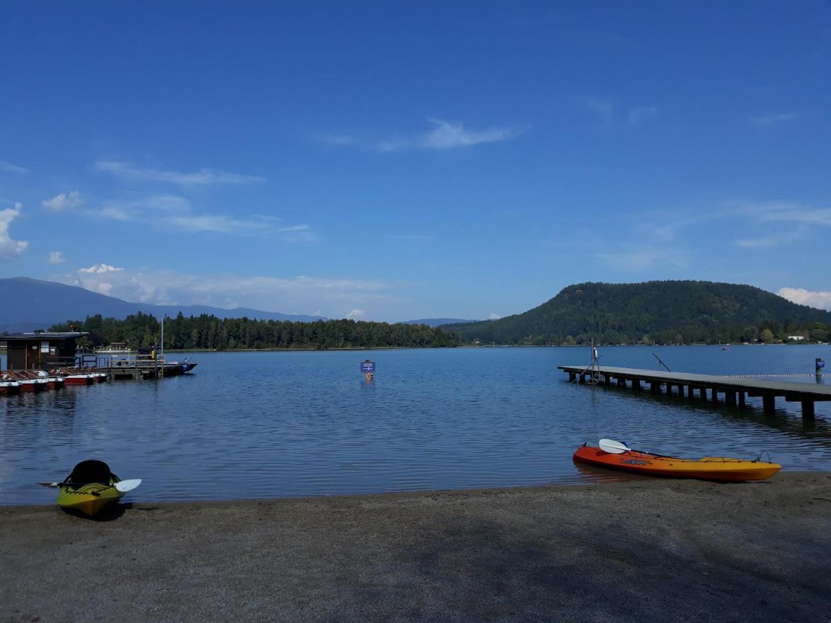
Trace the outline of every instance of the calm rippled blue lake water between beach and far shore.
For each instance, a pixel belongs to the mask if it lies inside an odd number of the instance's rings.
[[[652,352],[672,370],[715,374],[813,373],[814,357],[831,360],[829,346],[623,346],[601,349],[601,362],[656,369]],[[193,375],[0,398],[0,504],[52,503],[54,491],[32,483],[88,458],[144,478],[135,501],[621,478],[573,464],[599,437],[691,457],[765,450],[786,469],[831,469],[831,403],[803,423],[784,402],[771,416],[569,384],[557,365],[587,362],[588,348],[195,357]],[[378,364],[371,384],[358,370],[367,357]]]

